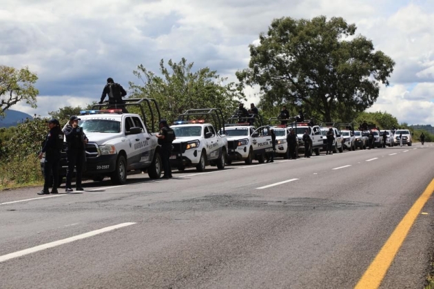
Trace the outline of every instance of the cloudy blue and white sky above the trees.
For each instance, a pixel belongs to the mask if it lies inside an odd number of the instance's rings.
[[[229,81],[250,60],[249,44],[280,17],[343,17],[396,62],[389,87],[367,111],[434,125],[433,0],[2,0],[0,65],[28,66],[39,80],[37,109],[99,101],[107,77],[138,83],[138,65],[186,58]],[[246,89],[247,103],[258,102]]]

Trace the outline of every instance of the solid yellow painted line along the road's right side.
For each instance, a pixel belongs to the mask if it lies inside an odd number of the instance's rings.
[[[433,191],[434,180],[428,184],[424,193],[422,193],[422,195],[413,204],[409,212],[406,213],[400,224],[397,225],[391,237],[389,237],[386,244],[384,244],[383,248],[381,248],[375,259],[373,259],[366,272],[364,272],[362,278],[360,278],[359,282],[355,286],[355,289],[371,289],[380,287],[384,275],[386,275],[386,272],[389,270],[395,255],[397,254],[398,250],[400,250],[404,239],[409,234],[411,226],[413,226],[417,216],[420,214],[420,211],[422,211],[422,208],[433,194]]]

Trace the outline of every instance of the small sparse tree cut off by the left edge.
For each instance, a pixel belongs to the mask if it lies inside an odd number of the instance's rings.
[[[4,116],[6,109],[21,100],[36,108],[39,91],[34,87],[34,83],[37,80],[38,76],[30,72],[28,67],[15,69],[0,65],[0,116]]]

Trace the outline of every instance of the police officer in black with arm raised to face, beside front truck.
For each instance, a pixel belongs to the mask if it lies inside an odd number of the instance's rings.
[[[74,167],[76,168],[76,190],[84,191],[81,187],[81,175],[83,173],[83,166],[86,162],[86,144],[89,142],[83,128],[79,127],[79,120],[76,116],[71,116],[70,122],[63,130],[65,133],[66,142],[68,142],[68,149],[66,156],[68,160],[68,170],[66,171],[66,188],[65,191],[72,192],[71,180],[74,173]]]

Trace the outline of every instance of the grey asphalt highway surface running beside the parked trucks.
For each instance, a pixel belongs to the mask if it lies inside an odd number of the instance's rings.
[[[423,288],[433,168],[416,143],[1,191],[0,288]]]

